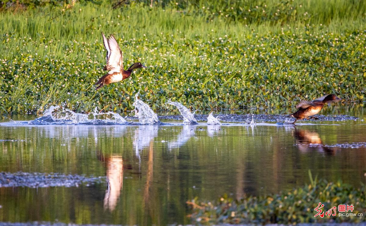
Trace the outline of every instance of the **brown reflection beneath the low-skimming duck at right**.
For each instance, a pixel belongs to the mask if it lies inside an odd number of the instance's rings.
[[[298,129],[292,132],[292,136],[296,139],[296,146],[299,148],[300,152],[307,153],[312,150],[316,150],[320,153],[327,155],[334,155],[335,150],[326,147],[319,134],[316,131],[308,131],[306,129]]]

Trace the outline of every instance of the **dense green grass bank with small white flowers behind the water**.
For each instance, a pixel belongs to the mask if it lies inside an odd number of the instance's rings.
[[[201,109],[293,106],[326,93],[365,101],[366,3],[275,2],[3,11],[0,112],[131,110],[137,91],[153,109],[168,99]],[[96,92],[105,73],[101,31],[117,38],[125,67],[149,68]]]

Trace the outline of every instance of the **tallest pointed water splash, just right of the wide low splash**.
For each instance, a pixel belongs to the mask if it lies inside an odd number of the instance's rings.
[[[135,102],[132,105],[135,106],[135,108],[137,108],[138,121],[142,125],[161,124],[161,122],[158,120],[157,114],[154,113],[154,111],[149,107],[149,105],[138,99],[138,93],[135,94]]]

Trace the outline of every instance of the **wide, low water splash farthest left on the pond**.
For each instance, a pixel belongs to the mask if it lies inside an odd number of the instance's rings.
[[[92,118],[90,119],[90,117]],[[103,116],[98,119],[96,116]],[[89,114],[76,113],[70,109],[61,106],[51,106],[45,110],[43,116],[30,121],[30,125],[67,125],[67,124],[84,124],[84,125],[114,125],[127,124],[122,116],[114,112],[97,113],[94,111]]]

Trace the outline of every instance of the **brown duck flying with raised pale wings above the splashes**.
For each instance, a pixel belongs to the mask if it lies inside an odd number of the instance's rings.
[[[123,79],[127,79],[131,76],[132,70],[136,68],[147,68],[140,62],[136,62],[126,70],[123,69],[123,56],[121,49],[113,35],[110,35],[108,39],[102,32],[104,48],[107,50],[106,60],[107,65],[103,68],[105,71],[109,71],[103,75],[96,83],[96,90],[100,89],[104,85],[108,85],[113,82],[120,82]]]

